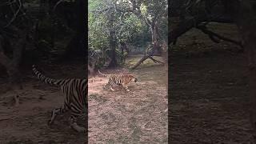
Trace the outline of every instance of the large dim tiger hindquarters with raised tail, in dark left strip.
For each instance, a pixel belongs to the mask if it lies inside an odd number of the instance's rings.
[[[53,79],[48,78],[41,74],[33,65],[32,70],[35,75],[47,84],[60,86],[62,93],[64,94],[64,105],[61,108],[54,109],[49,121],[49,125],[54,122],[55,117],[58,114],[71,111],[70,126],[78,132],[86,132],[84,127],[77,125],[77,118],[79,115],[86,111],[86,95],[87,95],[87,79],[86,78],[67,78],[67,79]]]

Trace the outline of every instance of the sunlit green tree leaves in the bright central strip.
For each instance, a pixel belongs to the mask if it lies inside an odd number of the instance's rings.
[[[89,0],[88,38],[90,50],[102,50],[107,58],[111,49],[110,31],[114,30],[116,44],[126,42],[137,51],[143,51],[151,42],[150,27],[144,18],[152,20],[154,14],[160,15],[157,21],[161,39],[167,39],[167,1],[140,0],[135,2],[137,8],[131,12],[130,9],[133,8],[131,8],[130,0]],[[111,16],[114,16],[113,20]],[[122,54],[119,46],[116,47],[116,53],[120,59]]]

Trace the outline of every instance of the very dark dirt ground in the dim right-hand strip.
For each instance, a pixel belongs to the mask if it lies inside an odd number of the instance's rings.
[[[178,39],[170,62],[171,143],[249,143],[245,54],[192,30]]]

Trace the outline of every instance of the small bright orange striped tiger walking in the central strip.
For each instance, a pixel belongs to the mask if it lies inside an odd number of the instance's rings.
[[[109,82],[108,84],[110,84],[110,90],[114,91],[114,89],[112,88],[112,86],[114,84],[122,86],[123,88],[126,89],[126,91],[130,91],[128,90],[128,84],[130,82],[137,82],[138,79],[134,77],[134,75],[132,74],[102,74],[99,70],[98,73],[101,74],[104,77],[109,78]]]

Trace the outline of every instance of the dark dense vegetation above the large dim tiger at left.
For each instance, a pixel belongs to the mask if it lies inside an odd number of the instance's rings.
[[[86,2],[0,2],[0,74],[22,88],[21,69],[86,56]]]

